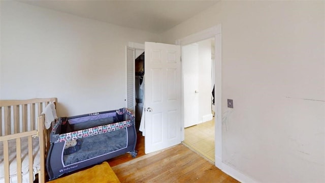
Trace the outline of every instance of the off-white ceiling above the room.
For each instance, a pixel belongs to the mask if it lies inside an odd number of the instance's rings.
[[[159,34],[208,9],[218,0],[23,0],[20,2]]]

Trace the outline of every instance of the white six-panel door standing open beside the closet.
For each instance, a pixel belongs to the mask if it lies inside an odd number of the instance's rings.
[[[145,154],[181,142],[180,46],[145,42]]]

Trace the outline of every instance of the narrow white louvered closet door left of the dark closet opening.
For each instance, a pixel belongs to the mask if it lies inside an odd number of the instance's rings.
[[[126,47],[126,108],[135,112],[136,88],[135,88],[135,62],[134,48]]]

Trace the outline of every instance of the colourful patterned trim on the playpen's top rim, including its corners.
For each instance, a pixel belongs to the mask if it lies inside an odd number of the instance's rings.
[[[107,133],[107,132],[127,128],[127,127],[134,125],[133,119],[135,118],[135,116],[133,115],[133,113],[131,111],[127,110],[126,108],[121,108],[119,110],[116,110],[116,113],[117,114],[127,114],[130,119],[126,120],[126,121],[117,122],[114,124],[103,125],[103,126],[93,127],[93,128],[89,128],[89,129],[60,134],[59,138],[54,143],[70,141],[70,140],[75,140],[75,139],[82,139],[84,137],[90,137],[90,136],[94,136],[97,134]],[[52,131],[55,133],[56,129],[60,125],[64,125],[67,123],[67,119],[68,119],[67,117],[60,118],[57,121],[57,123],[54,125]]]

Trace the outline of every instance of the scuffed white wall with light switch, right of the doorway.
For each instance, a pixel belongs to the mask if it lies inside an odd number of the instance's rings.
[[[222,1],[161,40],[220,23],[222,162],[258,182],[324,182],[324,2]]]

